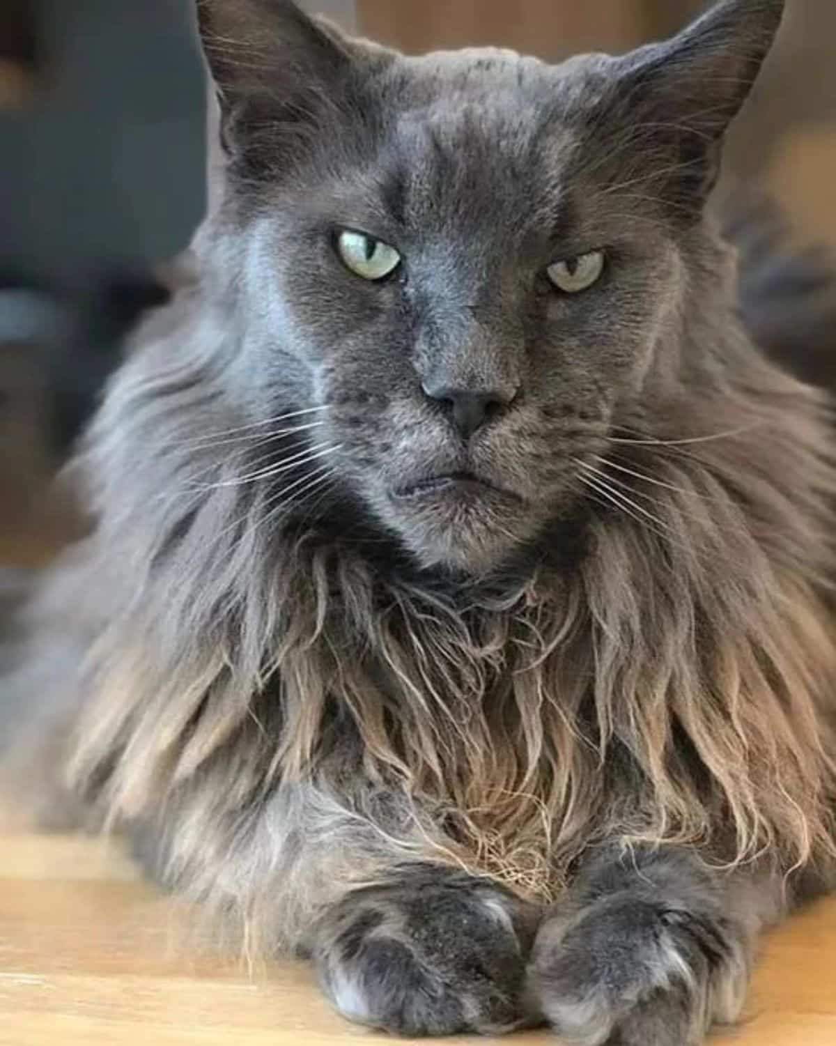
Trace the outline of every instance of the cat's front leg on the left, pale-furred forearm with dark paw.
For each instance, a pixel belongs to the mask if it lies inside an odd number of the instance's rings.
[[[310,957],[349,1020],[408,1036],[524,1023],[542,909],[446,864],[449,840],[433,841],[431,819],[417,828],[360,780],[353,795],[285,787],[248,825],[207,815],[219,794],[220,781],[195,789],[163,822],[134,826],[155,878],[239,912],[248,947]]]

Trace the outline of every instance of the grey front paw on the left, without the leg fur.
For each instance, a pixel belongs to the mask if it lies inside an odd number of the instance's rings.
[[[535,925],[500,888],[422,866],[329,911],[314,959],[349,1020],[404,1036],[499,1033],[526,1023]]]

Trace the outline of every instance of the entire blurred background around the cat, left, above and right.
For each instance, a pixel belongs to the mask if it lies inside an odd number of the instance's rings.
[[[118,359],[165,298],[207,202],[211,110],[194,0],[0,0],[0,570],[83,523],[49,482]],[[311,0],[419,52],[498,44],[557,60],[670,33],[700,0]],[[836,247],[836,2],[788,0],[739,120],[727,184],[771,192]],[[210,165],[211,166],[211,165]]]

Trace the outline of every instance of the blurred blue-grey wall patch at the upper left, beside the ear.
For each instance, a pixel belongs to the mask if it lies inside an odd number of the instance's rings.
[[[64,281],[182,249],[205,206],[189,7],[32,5],[37,91],[0,112],[0,269]]]

